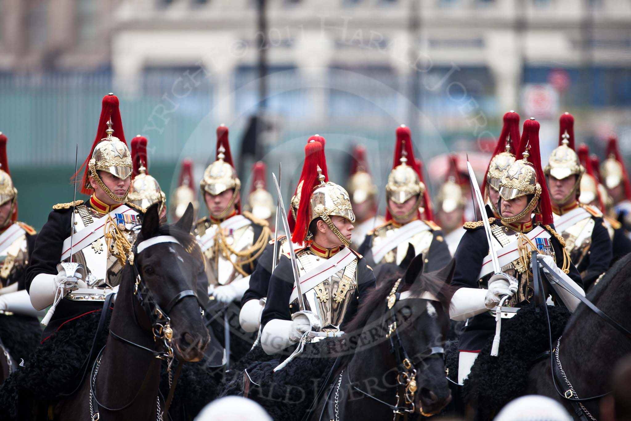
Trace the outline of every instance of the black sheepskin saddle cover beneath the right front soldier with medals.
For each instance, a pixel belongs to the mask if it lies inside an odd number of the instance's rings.
[[[548,306],[548,314],[554,343],[563,333],[570,312],[562,306]],[[491,356],[491,337],[464,381],[463,400],[475,409],[476,420],[492,420],[504,405],[522,396],[528,386],[528,372],[550,347],[546,313],[543,309],[537,312],[534,304],[502,320],[501,335],[498,356]]]

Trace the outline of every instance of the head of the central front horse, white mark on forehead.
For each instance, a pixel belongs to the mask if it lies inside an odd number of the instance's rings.
[[[403,365],[399,384],[406,384],[415,412],[432,415],[451,401],[442,347],[449,331],[449,283],[454,262],[440,271],[423,273],[423,259],[419,255],[411,261],[392,288],[395,293],[388,297],[391,319],[397,322],[397,326],[390,325],[394,329],[389,338],[398,363]]]

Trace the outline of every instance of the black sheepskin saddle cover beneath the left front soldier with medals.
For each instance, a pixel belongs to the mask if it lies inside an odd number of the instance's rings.
[[[32,418],[37,408],[80,384],[81,368],[90,355],[100,316],[101,312],[95,311],[64,324],[24,359],[23,366],[0,389],[0,420]],[[97,350],[105,345],[108,327],[109,320],[97,339]],[[29,414],[24,413],[26,408]]]

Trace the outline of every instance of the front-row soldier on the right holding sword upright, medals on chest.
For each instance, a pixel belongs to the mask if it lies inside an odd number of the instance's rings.
[[[452,297],[450,316],[454,320],[469,319],[459,340],[459,383],[468,376],[478,352],[495,333],[495,315],[490,310],[500,304],[501,297],[509,295],[509,288],[516,289],[507,307],[502,307],[502,317],[505,312],[514,313],[509,307],[520,307],[533,298],[531,251],[543,255],[551,268],[558,268],[557,275],[584,294],[581,276],[565,251],[563,237],[551,227],[550,198],[541,170],[539,123],[534,119],[524,122],[517,157],[519,160],[509,166],[498,185],[501,218],[488,219],[490,240],[502,273],[493,273],[483,221],[464,224],[467,232],[456,251],[452,286],[458,289]],[[553,290],[557,304],[563,302],[570,311],[579,303],[551,276],[544,289],[546,296]]]

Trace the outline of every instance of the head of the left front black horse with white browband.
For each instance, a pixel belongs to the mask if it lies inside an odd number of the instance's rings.
[[[160,225],[158,206],[152,205],[144,214],[134,247],[134,266],[139,275],[136,288],[148,292],[141,298],[144,312],[154,325],[154,335],[155,323],[169,320],[172,332],[167,329],[166,334],[157,334],[170,340],[175,357],[181,361],[199,361],[210,340],[196,296],[198,279],[206,274],[201,250],[190,234],[192,222],[190,203],[175,225]],[[138,297],[138,290],[134,294]],[[164,317],[156,320],[162,313]]]

